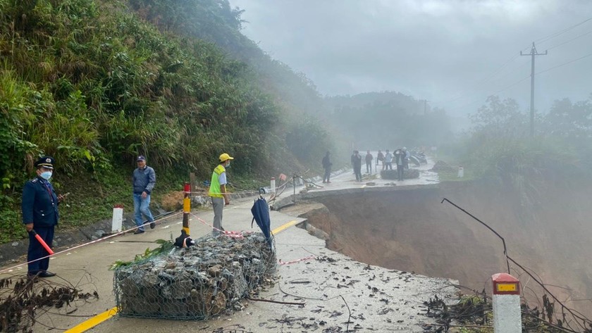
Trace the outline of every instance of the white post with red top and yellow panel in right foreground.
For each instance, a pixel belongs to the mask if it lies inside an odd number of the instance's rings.
[[[520,282],[510,274],[498,273],[493,281],[493,332],[522,333]]]

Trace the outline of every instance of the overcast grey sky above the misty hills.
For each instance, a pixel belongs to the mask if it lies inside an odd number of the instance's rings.
[[[529,54],[532,42],[538,53],[548,50],[536,56],[535,72],[545,71],[535,75],[538,111],[547,112],[555,99],[584,101],[592,93],[590,0],[230,4],[245,10],[247,37],[306,74],[324,95],[396,91],[460,115],[497,94],[528,110],[531,56],[520,51]]]

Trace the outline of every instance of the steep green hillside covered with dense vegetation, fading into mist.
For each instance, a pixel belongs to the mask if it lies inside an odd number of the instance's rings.
[[[314,86],[242,36],[228,1],[0,0],[0,28],[0,241],[25,235],[20,190],[44,154],[72,227],[131,204],[138,154],[158,196],[208,179],[221,152],[239,190],[331,147],[298,102]]]

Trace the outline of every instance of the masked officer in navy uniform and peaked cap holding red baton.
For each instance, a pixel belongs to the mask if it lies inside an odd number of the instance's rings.
[[[51,186],[49,178],[54,172],[54,158],[43,156],[35,162],[37,177],[29,180],[23,187],[23,223],[29,232],[29,251],[27,262],[29,262],[28,275],[30,277],[52,277],[55,273],[47,271],[49,268],[49,253],[42,244],[35,238],[33,230],[41,236],[45,243],[51,247],[54,241],[54,228],[58,224],[58,203],[63,196],[56,196],[54,187]],[[41,259],[43,258],[43,259]]]

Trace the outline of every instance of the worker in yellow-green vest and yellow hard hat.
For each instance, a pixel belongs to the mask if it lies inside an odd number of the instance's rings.
[[[230,160],[233,160],[228,153],[223,153],[220,156],[220,163],[214,172],[211,174],[210,189],[208,195],[211,197],[211,206],[214,207],[214,230],[212,234],[217,236],[220,231],[224,231],[222,227],[222,211],[224,206],[230,204],[228,193],[226,192],[226,168],[230,165]]]

